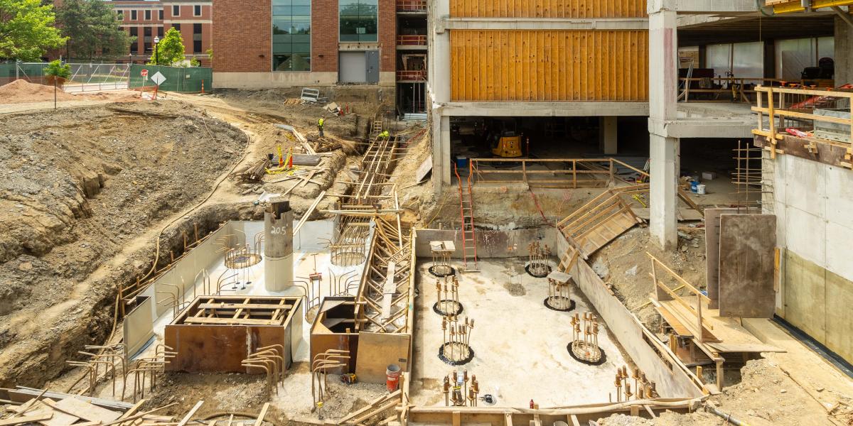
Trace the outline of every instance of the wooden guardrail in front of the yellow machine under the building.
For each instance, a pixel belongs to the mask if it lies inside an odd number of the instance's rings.
[[[648,179],[648,173],[645,171],[625,164],[616,158],[471,158],[470,161],[474,184],[525,182],[529,185],[545,187],[603,186],[602,183],[609,184],[614,179],[625,181],[616,174],[617,166],[635,171],[643,180]],[[506,168],[486,168],[489,164],[500,164]],[[561,169],[538,170],[531,168],[530,164],[566,165]],[[518,177],[490,178],[490,176]]]

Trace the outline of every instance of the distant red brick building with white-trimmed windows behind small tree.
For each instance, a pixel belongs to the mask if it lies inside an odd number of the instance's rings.
[[[181,32],[187,58],[210,66],[207,49],[212,47],[212,2],[210,0],[109,0],[121,28],[136,36],[129,60],[147,61],[154,51],[154,37],[163,37],[169,28]]]

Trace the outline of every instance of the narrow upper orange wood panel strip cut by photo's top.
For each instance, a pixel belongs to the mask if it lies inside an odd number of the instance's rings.
[[[453,18],[639,18],[646,0],[450,0]]]

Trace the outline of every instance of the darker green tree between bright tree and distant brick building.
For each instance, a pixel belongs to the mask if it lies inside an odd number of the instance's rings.
[[[69,58],[124,56],[136,41],[136,37],[119,29],[115,11],[102,0],[65,0],[57,10],[57,20],[69,38],[66,44]]]

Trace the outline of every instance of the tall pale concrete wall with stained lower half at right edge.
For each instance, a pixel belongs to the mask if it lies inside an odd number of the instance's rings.
[[[853,360],[853,170],[792,155],[763,164],[784,253],[776,314]]]

